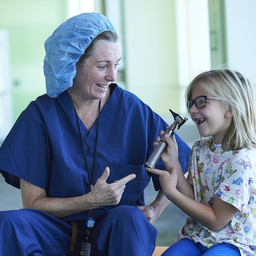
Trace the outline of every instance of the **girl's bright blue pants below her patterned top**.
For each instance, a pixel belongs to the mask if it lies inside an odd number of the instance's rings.
[[[241,256],[238,247],[231,244],[217,244],[206,249],[201,243],[183,238],[171,245],[161,256]]]

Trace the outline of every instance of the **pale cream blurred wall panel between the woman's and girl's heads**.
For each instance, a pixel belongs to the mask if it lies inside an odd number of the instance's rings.
[[[126,88],[160,115],[178,111],[174,0],[123,0]]]

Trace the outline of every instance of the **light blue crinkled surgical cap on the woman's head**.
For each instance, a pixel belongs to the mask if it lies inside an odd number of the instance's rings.
[[[115,28],[103,14],[82,13],[62,23],[44,43],[46,93],[56,98],[73,85],[76,62],[92,40],[105,30]]]

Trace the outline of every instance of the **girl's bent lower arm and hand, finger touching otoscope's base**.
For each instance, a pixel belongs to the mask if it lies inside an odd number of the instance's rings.
[[[222,229],[238,211],[235,206],[222,201],[217,196],[215,196],[213,206],[211,207],[199,203],[178,191],[176,188],[178,181],[176,167],[173,167],[171,172],[149,168],[147,168],[147,170],[160,176],[159,180],[162,190],[172,203],[185,212],[189,217],[210,229],[217,231]]]

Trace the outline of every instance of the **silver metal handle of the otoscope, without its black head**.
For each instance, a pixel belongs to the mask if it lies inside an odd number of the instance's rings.
[[[174,135],[174,130],[177,126],[178,122],[175,120],[172,125],[167,128],[164,132],[164,135],[161,137],[161,140],[158,142],[155,150],[153,151],[152,155],[149,157],[148,162],[146,162],[146,167],[155,168],[158,160],[164,153],[165,149],[167,148],[167,142],[164,139],[165,134],[168,135],[169,138],[172,138]]]

